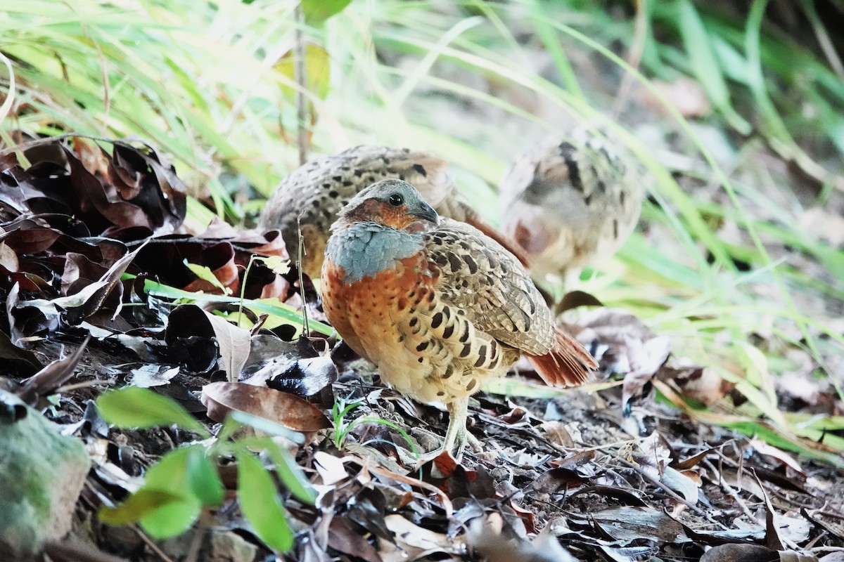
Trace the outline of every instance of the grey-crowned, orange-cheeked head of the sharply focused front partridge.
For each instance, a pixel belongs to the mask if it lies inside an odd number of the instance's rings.
[[[440,217],[413,185],[381,179],[355,195],[339,212],[339,222],[377,222],[398,230],[425,230]]]

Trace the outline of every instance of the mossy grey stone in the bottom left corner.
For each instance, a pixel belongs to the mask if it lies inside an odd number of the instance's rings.
[[[90,468],[78,439],[0,390],[0,559],[24,559],[70,531]]]

